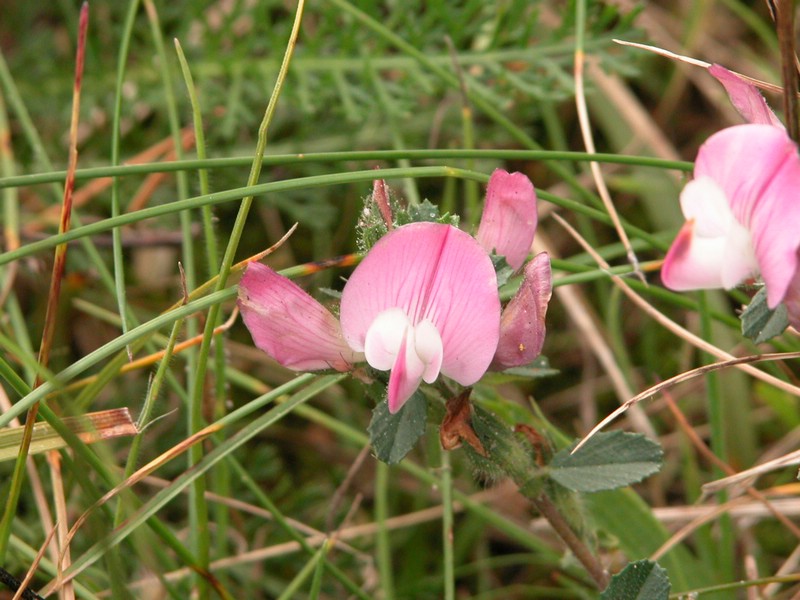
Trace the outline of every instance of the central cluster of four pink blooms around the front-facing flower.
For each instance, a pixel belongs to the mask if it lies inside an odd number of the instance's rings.
[[[542,253],[525,266],[517,295],[503,309],[490,257],[522,267],[536,224],[533,184],[498,169],[475,238],[443,223],[392,228],[348,279],[340,319],[259,263],[248,266],[239,286],[242,317],[255,344],[290,369],[348,371],[366,360],[391,371],[395,413],[423,381],[441,374],[468,386],[490,368],[524,365],[540,353],[549,258]]]

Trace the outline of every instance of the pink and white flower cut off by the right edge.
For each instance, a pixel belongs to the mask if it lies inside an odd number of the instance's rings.
[[[687,222],[661,271],[667,287],[730,289],[760,273],[769,307],[788,300],[798,323],[800,158],[782,128],[738,125],[711,136],[681,209]]]

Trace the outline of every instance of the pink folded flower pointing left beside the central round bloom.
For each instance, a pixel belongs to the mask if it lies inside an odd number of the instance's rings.
[[[348,371],[363,360],[344,341],[339,322],[294,282],[261,263],[239,283],[239,308],[256,346],[295,371]]]

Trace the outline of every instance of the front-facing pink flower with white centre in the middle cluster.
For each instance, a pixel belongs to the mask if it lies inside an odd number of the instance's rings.
[[[342,331],[378,370],[391,369],[389,410],[439,373],[472,385],[500,334],[500,298],[489,256],[473,237],[411,223],[382,237],[342,292]]]

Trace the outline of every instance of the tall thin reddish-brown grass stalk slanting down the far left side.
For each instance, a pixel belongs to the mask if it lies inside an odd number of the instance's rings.
[[[78,24],[78,48],[75,54],[75,83],[72,89],[72,120],[69,132],[69,165],[67,167],[67,179],[64,182],[64,199],[61,209],[61,223],[59,233],[69,230],[72,216],[72,193],[75,189],[75,170],[78,165],[78,122],[80,115],[80,96],[81,81],[83,79],[83,63],[86,49],[86,30],[89,25],[89,5],[84,2],[81,7],[80,20]],[[47,367],[50,361],[50,348],[53,343],[53,333],[55,332],[57,308],[61,293],[61,281],[64,278],[64,267],[67,258],[67,245],[60,244],[56,247],[53,261],[53,274],[50,279],[50,293],[47,298],[47,312],[45,313],[44,331],[42,332],[42,342],[39,346],[39,364]],[[37,375],[34,387],[42,384],[41,376]],[[19,448],[19,455],[14,469],[11,492],[6,501],[5,513],[3,514],[0,530],[8,531],[8,525],[14,518],[19,500],[19,494],[24,478],[25,461],[31,445],[33,435],[33,424],[39,413],[39,404],[36,403],[28,410],[25,421],[25,430]],[[6,540],[0,540],[0,557],[5,553]]]

